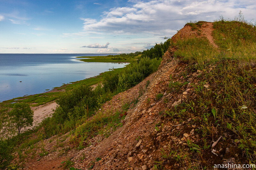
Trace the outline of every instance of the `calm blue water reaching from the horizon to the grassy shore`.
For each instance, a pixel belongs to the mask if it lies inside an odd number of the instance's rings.
[[[0,101],[42,93],[125,65],[76,60],[76,56],[97,55],[108,54],[0,54]]]

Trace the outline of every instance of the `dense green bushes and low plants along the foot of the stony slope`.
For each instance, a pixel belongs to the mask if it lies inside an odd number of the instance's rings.
[[[134,54],[135,53],[129,54],[129,56],[134,57]],[[136,56],[137,55],[136,53]],[[1,137],[3,137],[1,138],[2,140],[0,140],[0,152],[3,153],[0,155],[0,168],[5,168],[10,163],[13,159],[12,154],[17,154],[17,152],[21,154],[20,158],[22,161],[22,158],[25,157],[22,151],[26,147],[34,146],[34,144],[40,140],[52,137],[56,134],[65,134],[73,129],[75,129],[75,136],[71,137],[71,142],[82,149],[85,147],[84,141],[86,141],[88,137],[93,137],[92,134],[98,134],[103,126],[106,126],[110,122],[114,124],[120,123],[121,118],[125,116],[120,117],[120,114],[125,112],[127,108],[124,106],[124,111],[116,112],[114,115],[93,117],[90,122],[86,122],[87,119],[94,115],[102,104],[110,100],[113,95],[137,85],[149,74],[156,71],[160,62],[160,59],[140,57],[138,61],[132,62],[124,69],[116,69],[104,73],[102,85],[99,84],[94,89],[90,87],[90,84],[86,83],[86,81],[76,86],[73,85],[70,90],[66,88],[66,92],[62,92],[56,97],[56,102],[59,104],[59,107],[54,111],[52,117],[44,119],[40,126],[36,127],[34,130],[30,130],[10,139],[4,139],[7,133],[7,131],[4,130],[10,128],[10,126],[3,124],[3,127],[0,127],[0,135],[2,134]],[[130,106],[132,103],[126,104]],[[5,113],[9,112],[13,107],[12,104],[6,106],[8,107],[1,109],[2,114],[0,116],[3,117],[1,122],[8,122],[9,118]],[[116,125],[113,125],[112,128],[115,126]],[[118,126],[120,126],[120,124]],[[78,132],[79,135],[77,134]],[[87,133],[92,134],[89,135]],[[36,139],[29,140],[28,138],[32,136],[36,136]],[[6,142],[9,143],[8,147],[5,146]],[[25,143],[28,143],[28,145]],[[21,146],[17,147],[17,145]]]

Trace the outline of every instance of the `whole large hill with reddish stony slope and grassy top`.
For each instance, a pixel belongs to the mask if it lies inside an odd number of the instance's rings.
[[[49,132],[45,124],[20,144],[12,163],[142,170],[255,163],[255,26],[188,23],[166,42],[155,72],[70,122],[73,128],[38,138]]]

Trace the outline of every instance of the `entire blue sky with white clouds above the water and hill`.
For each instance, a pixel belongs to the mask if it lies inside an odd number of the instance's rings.
[[[0,53],[143,51],[187,22],[239,11],[255,22],[255,0],[0,0]]]

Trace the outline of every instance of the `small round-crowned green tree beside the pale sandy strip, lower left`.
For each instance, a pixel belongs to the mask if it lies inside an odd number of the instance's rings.
[[[11,122],[20,134],[20,130],[33,125],[33,111],[27,103],[16,103],[9,112]]]

